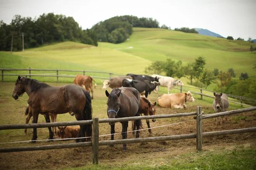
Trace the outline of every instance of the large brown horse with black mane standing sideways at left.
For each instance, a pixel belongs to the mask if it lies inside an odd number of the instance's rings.
[[[45,114],[45,121],[50,122],[49,113],[64,114],[72,111],[76,120],[92,119],[92,104],[90,93],[78,85],[70,84],[62,87],[51,87],[46,83],[40,83],[35,79],[18,76],[12,97],[17,100],[23,93],[29,96],[28,104],[33,115],[32,123],[37,123],[38,115]],[[53,139],[52,129],[49,129],[49,140]],[[76,142],[84,142],[86,137],[92,136],[92,124],[80,125]],[[31,142],[35,143],[37,139],[36,128],[33,128],[33,138]],[[87,138],[87,141],[91,141]]]

